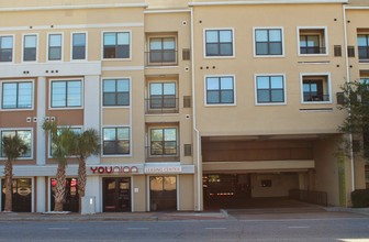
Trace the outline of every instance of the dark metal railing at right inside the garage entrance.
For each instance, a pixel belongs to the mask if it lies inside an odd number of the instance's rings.
[[[289,190],[289,197],[314,205],[328,205],[328,194],[326,191],[291,189]]]

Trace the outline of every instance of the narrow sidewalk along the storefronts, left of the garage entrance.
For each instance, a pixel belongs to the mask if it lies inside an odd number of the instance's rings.
[[[103,212],[94,215],[53,212],[0,212],[1,221],[168,221],[168,220],[222,220],[220,212]]]

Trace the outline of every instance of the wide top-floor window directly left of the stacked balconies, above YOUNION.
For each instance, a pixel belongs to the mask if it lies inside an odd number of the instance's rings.
[[[130,33],[104,33],[103,58],[130,58]]]

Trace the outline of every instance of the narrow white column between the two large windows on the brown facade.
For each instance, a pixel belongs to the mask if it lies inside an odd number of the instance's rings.
[[[37,140],[36,140],[36,157],[37,165],[46,164],[46,141],[45,141],[45,132],[42,129],[42,124],[44,122],[46,116],[46,78],[38,77],[37,79]]]

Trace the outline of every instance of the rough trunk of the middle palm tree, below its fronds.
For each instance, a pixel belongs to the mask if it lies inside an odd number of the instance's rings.
[[[56,186],[55,186],[55,207],[54,211],[63,211],[65,202],[65,185],[66,185],[66,165],[59,163],[56,172]]]

